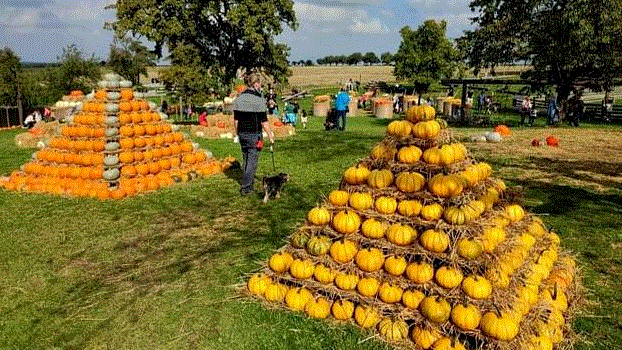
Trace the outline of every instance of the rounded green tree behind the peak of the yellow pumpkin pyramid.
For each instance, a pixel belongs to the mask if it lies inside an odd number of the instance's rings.
[[[425,21],[417,30],[404,27],[402,42],[394,56],[396,77],[415,85],[419,94],[430,85],[450,77],[457,64],[458,53],[446,36],[447,23]]]

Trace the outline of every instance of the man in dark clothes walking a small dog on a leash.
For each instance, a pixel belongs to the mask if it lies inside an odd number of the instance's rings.
[[[246,77],[245,83],[250,88],[242,92],[233,102],[233,118],[244,158],[240,189],[243,196],[253,192],[259,152],[263,148],[262,129],[268,134],[270,143],[274,143],[274,134],[268,123],[266,99],[259,92],[261,77],[258,74],[250,74]]]

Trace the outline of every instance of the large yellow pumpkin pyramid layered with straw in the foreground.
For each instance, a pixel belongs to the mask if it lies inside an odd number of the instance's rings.
[[[244,290],[401,348],[566,348],[575,261],[434,114],[391,122]]]

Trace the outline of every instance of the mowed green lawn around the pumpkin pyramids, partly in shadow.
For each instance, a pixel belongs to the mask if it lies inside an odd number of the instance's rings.
[[[235,174],[117,202],[0,190],[0,348],[387,348],[355,327],[269,310],[235,292],[386,127],[358,117],[348,131],[327,133],[321,122],[310,118],[307,131],[277,141],[276,170],[291,182],[268,204],[241,198]],[[17,149],[15,134],[0,132],[0,175],[34,151]],[[240,158],[230,140],[198,142],[217,157]],[[494,157],[497,168],[514,163]],[[264,152],[258,175],[272,172]],[[578,256],[594,303],[576,322],[585,339],[578,348],[618,348],[622,196],[505,179],[523,186],[528,209],[543,214]]]

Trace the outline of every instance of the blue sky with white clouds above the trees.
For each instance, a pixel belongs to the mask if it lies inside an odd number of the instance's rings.
[[[23,62],[56,62],[62,48],[77,44],[90,56],[108,57],[114,20],[105,10],[113,0],[0,0],[0,47]],[[470,0],[296,0],[299,28],[276,39],[287,44],[290,60],[316,60],[354,52],[396,52],[404,26],[426,19],[447,21],[447,34],[459,37],[472,28]]]

